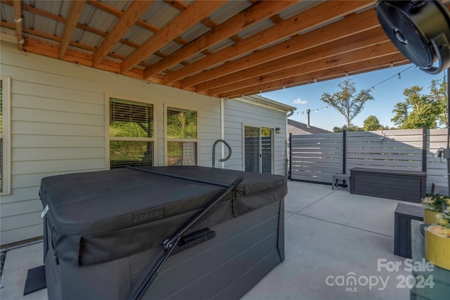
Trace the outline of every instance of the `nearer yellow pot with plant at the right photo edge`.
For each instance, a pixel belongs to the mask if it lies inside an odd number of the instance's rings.
[[[450,270],[450,205],[436,214],[434,224],[425,228],[425,257]]]

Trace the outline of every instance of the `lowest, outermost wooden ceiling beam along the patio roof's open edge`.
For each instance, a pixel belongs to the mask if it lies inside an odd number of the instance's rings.
[[[295,74],[290,77],[283,77],[274,81],[264,81],[252,86],[246,86],[242,89],[236,89],[226,93],[215,95],[221,98],[236,98],[242,95],[253,95],[255,93],[274,91],[277,89],[283,89],[293,86],[300,86],[302,84],[313,83],[313,79],[318,81],[328,80],[333,78],[345,77],[345,72],[349,74],[359,74],[368,72],[367,70],[380,70],[383,67],[389,67],[390,63],[395,65],[404,65],[409,61],[399,52],[387,53],[376,58],[366,57],[364,60],[358,62],[350,62],[342,65],[329,65],[321,70],[313,70],[304,74]]]

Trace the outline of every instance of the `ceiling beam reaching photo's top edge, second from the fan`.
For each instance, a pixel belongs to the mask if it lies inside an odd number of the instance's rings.
[[[261,1],[250,6],[149,67],[144,71],[144,78],[151,77],[296,3],[297,1]]]

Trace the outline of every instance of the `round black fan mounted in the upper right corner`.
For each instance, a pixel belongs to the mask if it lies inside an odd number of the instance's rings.
[[[450,14],[439,1],[378,1],[376,11],[387,36],[411,63],[430,74],[450,67]]]

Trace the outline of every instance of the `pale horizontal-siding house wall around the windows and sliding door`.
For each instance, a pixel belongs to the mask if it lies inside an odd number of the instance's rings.
[[[42,235],[41,178],[108,169],[108,97],[153,103],[155,165],[165,164],[165,105],[198,110],[198,165],[211,167],[212,144],[222,134],[219,98],[25,53],[5,41],[0,47],[1,75],[11,77],[11,194],[1,195],[1,245]],[[260,124],[258,117],[276,117],[264,126],[285,131],[285,113],[257,107],[253,115],[251,104],[241,106],[233,100],[226,105],[225,138],[233,146],[229,169],[242,169],[242,118],[252,115],[251,122]],[[277,152],[284,153],[282,145],[276,142]],[[281,169],[276,173],[283,174]]]

